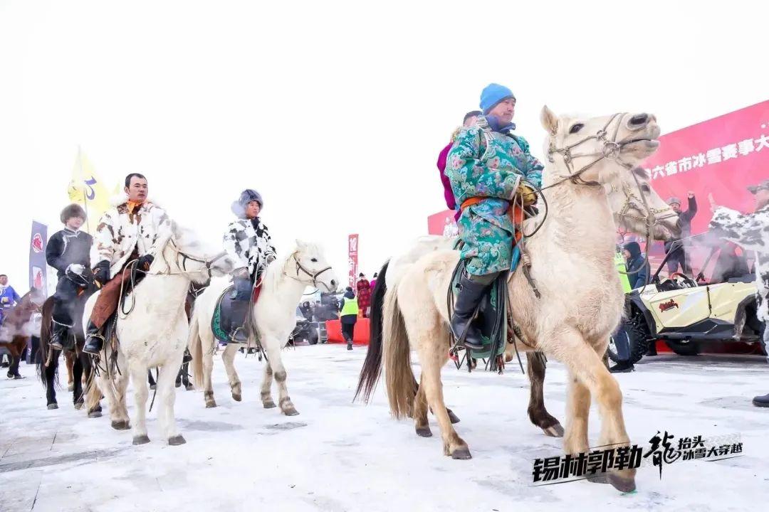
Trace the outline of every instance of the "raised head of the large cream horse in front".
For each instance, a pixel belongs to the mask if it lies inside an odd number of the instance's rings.
[[[652,114],[558,117],[545,106],[541,123],[548,131],[545,154],[560,167],[559,178],[579,173],[582,181],[611,185],[660,146],[660,127]]]

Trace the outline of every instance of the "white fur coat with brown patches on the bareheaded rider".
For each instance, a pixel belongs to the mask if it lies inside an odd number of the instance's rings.
[[[128,213],[125,194],[113,198],[110,210],[99,220],[93,245],[91,264],[109,262],[112,279],[128,263],[128,257],[138,248],[139,256],[155,256],[161,233],[171,228],[171,220],[160,206],[146,200],[134,213]]]

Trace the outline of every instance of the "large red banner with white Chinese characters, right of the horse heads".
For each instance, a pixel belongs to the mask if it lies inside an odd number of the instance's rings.
[[[644,162],[654,190],[664,200],[680,199],[682,210],[687,193],[694,192],[691,233],[702,233],[711,220],[708,193],[717,204],[753,210],[746,187],[769,177],[769,101],[665,134],[660,142],[660,150]]]

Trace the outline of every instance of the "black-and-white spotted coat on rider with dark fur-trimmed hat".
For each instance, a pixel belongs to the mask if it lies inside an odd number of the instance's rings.
[[[268,255],[275,257],[267,226],[257,217],[252,223],[248,219],[233,220],[225,233],[225,251],[235,262],[235,269],[248,268],[248,273],[265,264]]]

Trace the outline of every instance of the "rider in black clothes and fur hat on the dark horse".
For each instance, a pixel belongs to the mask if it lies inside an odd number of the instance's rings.
[[[62,210],[65,228],[48,240],[45,261],[57,270],[58,283],[53,296],[53,329],[51,346],[57,350],[72,349],[68,329],[75,325],[73,312],[75,299],[82,288],[88,287],[88,271],[91,268],[92,236],[80,230],[85,222],[85,211],[77,204]]]

